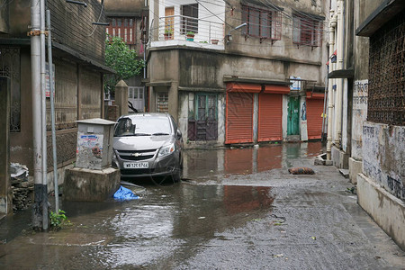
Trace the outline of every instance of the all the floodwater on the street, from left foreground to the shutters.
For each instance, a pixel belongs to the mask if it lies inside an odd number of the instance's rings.
[[[207,184],[206,179],[290,166],[294,158],[313,157],[320,148],[316,143],[189,150],[184,176],[192,181],[164,185],[144,182],[146,190],[134,201],[62,202],[61,208],[74,225],[58,233],[32,234],[31,215],[17,213],[14,219],[21,216],[25,223],[0,221],[0,239],[7,242],[0,246],[0,268],[179,266],[212,239],[223,237],[222,232],[243,228],[272,211],[272,187]],[[18,231],[15,226],[27,231],[13,240],[7,238],[11,228]],[[34,252],[35,257],[24,256]]]

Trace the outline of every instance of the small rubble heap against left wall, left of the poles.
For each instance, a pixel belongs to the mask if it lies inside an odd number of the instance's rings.
[[[28,180],[28,168],[19,163],[10,166],[13,190],[13,209],[28,209],[33,202],[33,181]]]

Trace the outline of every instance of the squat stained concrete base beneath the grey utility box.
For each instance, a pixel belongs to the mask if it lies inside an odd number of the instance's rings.
[[[69,168],[65,173],[64,199],[76,202],[103,202],[120,187],[120,170]]]

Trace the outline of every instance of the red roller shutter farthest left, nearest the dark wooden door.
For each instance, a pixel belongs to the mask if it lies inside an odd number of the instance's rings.
[[[253,94],[227,93],[225,143],[253,142]]]

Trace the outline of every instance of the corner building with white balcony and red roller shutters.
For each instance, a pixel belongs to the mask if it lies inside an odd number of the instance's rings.
[[[329,1],[149,2],[149,109],[188,147],[320,139]],[[322,62],[324,61],[324,62]]]

